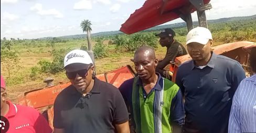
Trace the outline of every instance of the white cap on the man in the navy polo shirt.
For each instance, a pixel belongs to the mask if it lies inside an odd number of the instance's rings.
[[[212,40],[211,31],[205,27],[196,27],[191,29],[186,38],[186,45],[191,42],[198,42],[206,45],[209,39]]]

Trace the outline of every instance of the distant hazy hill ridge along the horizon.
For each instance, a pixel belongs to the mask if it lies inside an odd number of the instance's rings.
[[[230,21],[239,21],[239,20],[256,20],[256,15],[252,16],[244,16],[244,17],[230,17],[230,18],[220,18],[220,19],[215,19],[215,20],[208,20],[208,24],[216,24],[216,23],[225,23],[225,22],[230,22]],[[193,21],[194,25],[198,25],[198,21]],[[154,31],[154,30],[162,30],[165,28],[180,28],[180,27],[185,27],[187,26],[185,22],[183,23],[175,23],[175,24],[170,24],[170,25],[162,25],[162,26],[155,26],[150,29],[146,29],[144,31]],[[110,36],[110,35],[117,35],[117,34],[123,34],[121,31],[106,31],[106,32],[98,32],[95,34],[92,34],[92,37],[104,37],[104,36]],[[81,35],[70,35],[70,36],[61,36],[58,38],[61,39],[77,39],[77,38],[84,38],[86,34],[81,34]],[[40,40],[44,39],[52,39],[53,37],[44,37],[44,38],[39,38]]]

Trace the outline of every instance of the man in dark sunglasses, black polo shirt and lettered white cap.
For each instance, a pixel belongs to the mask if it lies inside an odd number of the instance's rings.
[[[70,51],[64,68],[71,85],[55,100],[55,133],[130,132],[121,93],[93,76],[93,62],[86,51]]]

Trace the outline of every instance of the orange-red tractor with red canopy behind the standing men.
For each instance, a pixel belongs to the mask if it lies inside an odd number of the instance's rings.
[[[120,30],[125,34],[133,34],[176,18],[182,18],[187,23],[187,29],[190,30],[193,28],[193,21],[191,19],[191,13],[193,12],[197,12],[199,26],[208,28],[205,10],[211,8],[209,2],[210,0],[147,0],[140,9],[137,9],[130,18],[126,20]],[[245,52],[243,48],[252,45],[255,45],[255,43],[239,41],[215,46],[212,50],[216,54],[221,54],[237,60],[243,68],[247,70],[249,68],[248,53]],[[174,67],[171,69],[173,72],[173,82],[175,82],[179,65],[190,59],[188,54],[175,59]],[[119,87],[125,80],[134,77],[135,72],[130,65],[126,65],[122,68],[95,76],[101,81]],[[70,83],[61,82],[58,85],[52,85],[50,83],[51,81],[51,79],[46,81],[48,82],[48,86],[45,88],[25,92],[24,94],[19,95],[17,101],[20,105],[33,107],[39,110],[39,112],[49,121],[51,128],[53,128],[53,106],[55,98],[64,88],[69,86]]]

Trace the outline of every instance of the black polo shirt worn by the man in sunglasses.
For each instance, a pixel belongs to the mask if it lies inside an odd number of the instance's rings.
[[[54,103],[54,127],[65,132],[114,132],[115,124],[128,121],[123,97],[111,84],[94,79],[91,95],[73,85],[59,93]]]

